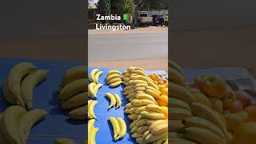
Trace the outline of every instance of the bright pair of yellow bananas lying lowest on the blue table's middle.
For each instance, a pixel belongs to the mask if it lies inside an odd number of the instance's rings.
[[[126,122],[122,118],[109,118],[110,123],[114,130],[114,141],[122,139],[126,134]]]

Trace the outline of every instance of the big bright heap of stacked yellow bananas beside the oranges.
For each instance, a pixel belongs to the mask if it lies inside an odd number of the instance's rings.
[[[133,121],[131,137],[138,143],[168,142],[168,122],[162,107],[157,105],[158,86],[146,76],[145,70],[138,67],[129,67],[122,78],[126,85],[123,94],[129,99],[125,112]]]

